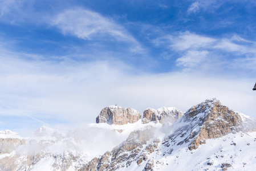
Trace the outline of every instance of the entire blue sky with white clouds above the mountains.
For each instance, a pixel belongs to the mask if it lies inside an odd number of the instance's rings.
[[[235,0],[0,1],[0,129],[212,97],[256,117],[255,13]]]

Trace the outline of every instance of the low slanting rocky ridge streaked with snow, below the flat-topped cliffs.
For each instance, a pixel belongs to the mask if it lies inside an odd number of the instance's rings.
[[[145,146],[154,135],[155,128],[152,127],[132,132],[124,143],[116,146],[111,152],[106,152],[100,158],[94,158],[79,171],[117,170],[128,167],[132,162],[137,162],[137,165],[140,165],[142,162],[147,161],[149,154],[155,152],[158,148],[159,139],[153,140],[152,143]],[[150,161],[144,170],[151,170],[152,166],[153,161]]]

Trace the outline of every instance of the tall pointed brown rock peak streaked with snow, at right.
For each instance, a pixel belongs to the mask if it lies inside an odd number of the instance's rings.
[[[239,131],[256,131],[255,126],[253,127],[255,119],[242,117],[220,101],[208,99],[185,112],[163,144],[173,146],[188,143],[188,148],[192,150],[204,144],[206,139],[216,139]],[[168,153],[172,153],[172,149]]]

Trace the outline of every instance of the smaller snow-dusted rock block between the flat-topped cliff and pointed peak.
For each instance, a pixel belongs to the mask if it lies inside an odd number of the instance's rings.
[[[177,119],[183,116],[183,113],[174,107],[162,107],[159,109],[147,108],[143,112],[143,123],[149,123],[150,121],[162,123],[174,123]]]

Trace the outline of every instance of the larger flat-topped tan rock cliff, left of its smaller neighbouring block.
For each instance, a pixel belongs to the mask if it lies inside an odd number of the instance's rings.
[[[107,123],[124,125],[135,123],[140,119],[140,112],[131,108],[122,108],[118,105],[111,105],[101,110],[96,118],[96,123]]]

